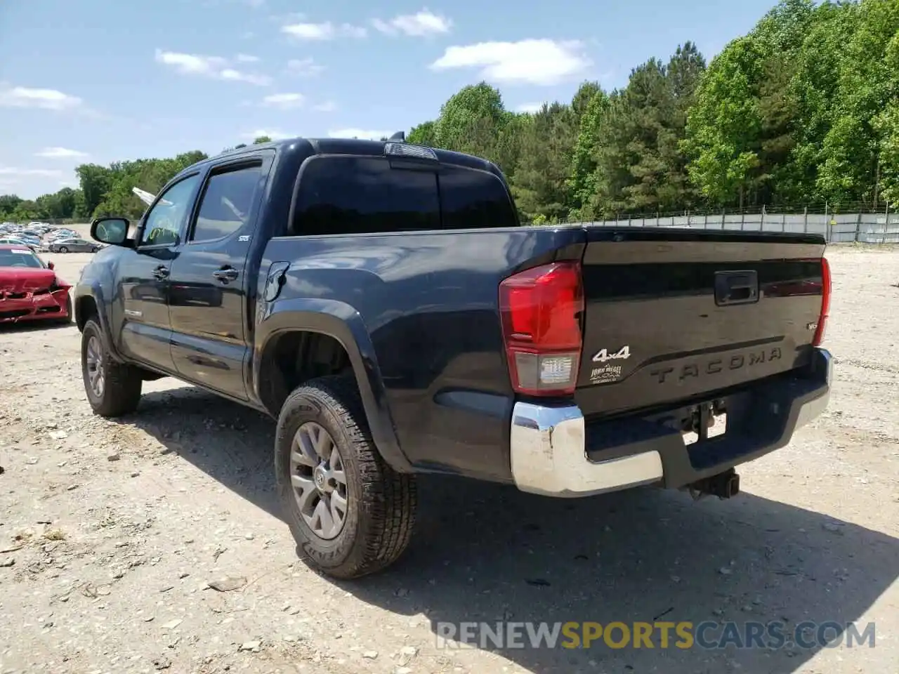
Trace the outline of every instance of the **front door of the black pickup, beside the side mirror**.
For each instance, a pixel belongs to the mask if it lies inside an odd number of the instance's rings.
[[[120,266],[121,349],[132,359],[173,374],[169,276],[199,184],[200,174],[193,173],[160,195],[138,228],[136,250]]]

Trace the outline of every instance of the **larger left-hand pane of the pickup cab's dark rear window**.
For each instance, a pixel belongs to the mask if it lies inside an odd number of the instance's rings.
[[[311,160],[299,183],[297,235],[440,229],[437,175],[392,169],[381,157]]]

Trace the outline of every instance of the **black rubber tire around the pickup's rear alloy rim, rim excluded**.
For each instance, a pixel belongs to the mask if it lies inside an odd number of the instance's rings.
[[[346,518],[331,540],[308,527],[290,482],[293,439],[307,421],[315,421],[334,439],[346,474]],[[278,417],[275,479],[290,533],[316,571],[360,578],[387,568],[405,552],[418,501],[414,475],[396,473],[378,453],[352,376],[313,379],[289,395]]]

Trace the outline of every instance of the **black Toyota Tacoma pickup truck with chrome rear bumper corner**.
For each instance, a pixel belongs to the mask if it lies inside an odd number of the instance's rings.
[[[830,394],[817,235],[521,226],[483,159],[304,138],[194,164],[129,225],[94,220],[75,290],[94,412],[177,377],[271,415],[334,577],[402,554],[415,474],[726,498]]]

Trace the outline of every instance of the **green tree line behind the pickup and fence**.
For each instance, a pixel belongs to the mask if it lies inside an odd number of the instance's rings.
[[[899,2],[781,0],[708,64],[688,41],[621,88],[584,82],[535,113],[507,110],[485,82],[466,86],[407,141],[493,160],[530,222],[825,202],[877,210],[899,200]],[[205,156],[83,164],[80,190],[0,197],[0,218],[139,217],[131,187],[156,191]],[[16,212],[29,215],[6,215]]]

